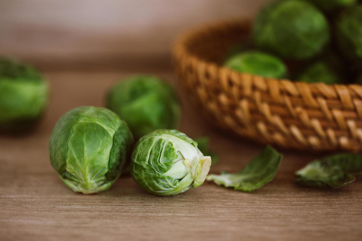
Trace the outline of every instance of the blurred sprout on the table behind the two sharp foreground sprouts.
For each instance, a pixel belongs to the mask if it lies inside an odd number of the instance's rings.
[[[176,93],[155,76],[135,75],[117,82],[106,102],[127,122],[136,139],[156,129],[176,128],[180,118]]]

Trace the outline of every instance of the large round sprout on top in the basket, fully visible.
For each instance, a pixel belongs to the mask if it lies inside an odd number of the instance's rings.
[[[257,47],[285,59],[309,59],[329,41],[327,19],[301,0],[273,1],[259,12],[253,26]]]

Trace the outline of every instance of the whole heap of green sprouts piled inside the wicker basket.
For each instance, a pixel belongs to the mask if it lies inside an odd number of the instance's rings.
[[[362,83],[362,4],[277,0],[257,14],[252,43],[224,66],[266,78]]]

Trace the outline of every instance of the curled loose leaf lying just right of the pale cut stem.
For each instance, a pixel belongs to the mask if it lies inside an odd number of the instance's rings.
[[[214,181],[217,185],[232,187],[234,190],[254,191],[273,180],[282,158],[283,155],[268,146],[239,173],[211,174],[206,180]]]

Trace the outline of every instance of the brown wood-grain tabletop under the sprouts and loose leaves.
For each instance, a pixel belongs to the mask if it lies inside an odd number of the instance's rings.
[[[150,72],[150,71],[147,71]],[[73,193],[48,156],[55,122],[82,105],[102,106],[106,89],[127,72],[52,71],[50,107],[37,130],[0,137],[0,240],[362,240],[362,177],[338,190],[303,188],[294,171],[317,157],[282,151],[275,179],[253,193],[205,183],[158,197],[121,177],[109,191]],[[157,71],[174,81],[171,71]],[[263,147],[227,137],[182,96],[180,130],[209,134],[220,155],[211,173],[237,171]]]

